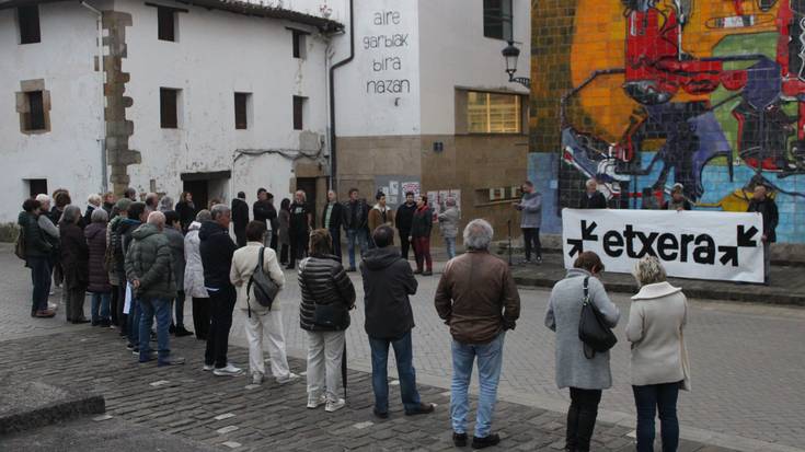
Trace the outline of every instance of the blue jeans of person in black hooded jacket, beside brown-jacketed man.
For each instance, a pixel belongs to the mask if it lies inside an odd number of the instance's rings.
[[[411,345],[411,332],[394,339],[376,339],[369,336],[371,348],[371,387],[375,390],[375,410],[389,412],[389,345],[394,348],[396,372],[400,376],[400,392],[406,412],[419,406],[419,392],[416,390],[416,371]]]

